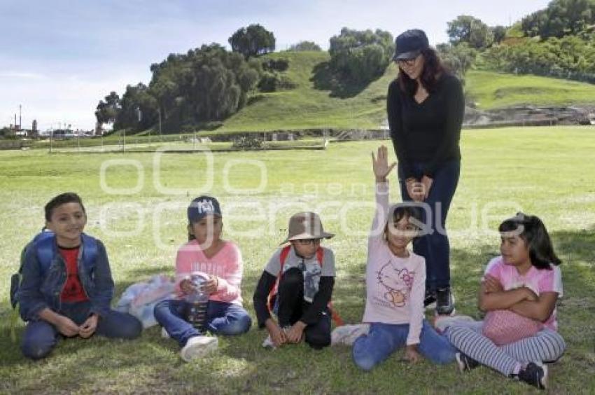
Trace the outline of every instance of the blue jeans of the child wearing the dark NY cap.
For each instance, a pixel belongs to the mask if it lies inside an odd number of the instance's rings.
[[[155,305],[155,319],[167,333],[184,347],[188,339],[200,335],[185,319],[186,301],[169,299]],[[241,335],[248,332],[252,319],[243,307],[232,303],[209,300],[207,305],[207,330],[218,335]]]

